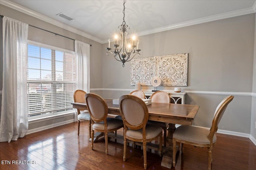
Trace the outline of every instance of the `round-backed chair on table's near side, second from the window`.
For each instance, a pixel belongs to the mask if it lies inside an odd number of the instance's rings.
[[[94,131],[104,133],[106,154],[108,154],[108,132],[113,132],[124,127],[123,121],[107,117],[108,105],[97,94],[87,93],[85,100],[92,121],[92,139],[94,139]],[[93,149],[93,142],[91,143],[91,148]]]

